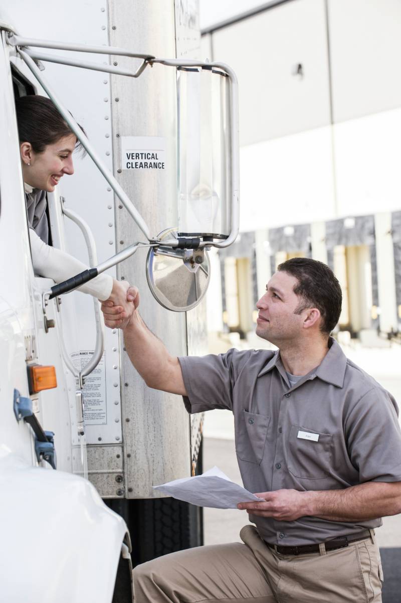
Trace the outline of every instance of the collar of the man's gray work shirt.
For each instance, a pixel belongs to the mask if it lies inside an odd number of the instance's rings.
[[[258,374],[258,377],[269,373],[269,371],[273,370],[274,367],[276,367],[280,373],[280,368],[284,371],[284,367],[282,367],[280,359],[280,350],[275,352],[275,355],[270,359],[266,367],[262,368]],[[320,362],[316,372],[313,371],[313,375],[311,375],[311,377],[316,375],[316,377],[319,377],[319,379],[322,379],[323,381],[331,383],[337,387],[343,387],[346,367],[346,355],[344,354],[343,350],[341,350],[341,347],[337,341],[335,341],[335,339],[332,337],[329,337],[329,351],[325,358],[323,358],[322,362]]]

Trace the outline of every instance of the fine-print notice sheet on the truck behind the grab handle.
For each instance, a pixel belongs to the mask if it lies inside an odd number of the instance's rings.
[[[92,358],[92,351],[74,352],[71,354],[73,365],[82,370]],[[105,352],[95,370],[85,377],[85,385],[82,390],[84,397],[84,422],[85,425],[106,425],[106,373]]]

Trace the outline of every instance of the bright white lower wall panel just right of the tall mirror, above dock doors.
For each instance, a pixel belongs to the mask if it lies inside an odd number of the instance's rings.
[[[330,130],[241,148],[241,231],[335,218]]]

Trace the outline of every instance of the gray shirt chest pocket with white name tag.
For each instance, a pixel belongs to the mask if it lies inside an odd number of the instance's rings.
[[[297,478],[326,478],[331,469],[332,435],[293,425],[288,438],[288,471]]]

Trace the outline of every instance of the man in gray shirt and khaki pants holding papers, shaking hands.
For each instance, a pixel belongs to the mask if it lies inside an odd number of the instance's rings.
[[[238,505],[256,525],[241,530],[243,544],[135,568],[135,603],[381,601],[374,529],[401,511],[396,402],[329,336],[341,289],[325,264],[284,262],[257,308],[256,333],[277,352],[173,358],[137,310],[125,326],[104,302],[149,387],[181,394],[188,412],[234,413],[244,487],[264,499]]]

